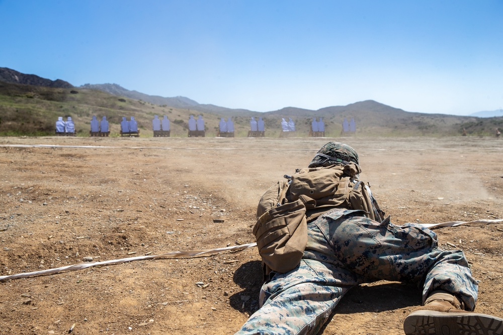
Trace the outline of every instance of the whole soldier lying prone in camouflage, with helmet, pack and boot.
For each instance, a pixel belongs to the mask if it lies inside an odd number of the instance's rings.
[[[422,290],[407,335],[503,334],[503,319],[473,312],[478,284],[463,252],[440,249],[421,225],[392,224],[360,173],[357,152],[329,142],[264,193],[254,227],[260,308],[235,335],[317,334],[349,289],[379,280]]]

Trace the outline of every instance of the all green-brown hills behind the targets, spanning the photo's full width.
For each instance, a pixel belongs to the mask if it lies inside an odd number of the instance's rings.
[[[118,85],[117,85],[118,86]],[[88,86],[90,87],[90,86]],[[120,87],[120,86],[119,86]],[[185,101],[185,102],[180,102]],[[193,101],[193,102],[191,102]],[[184,98],[180,103],[196,103]],[[177,105],[179,107],[177,107]],[[203,111],[202,111],[203,110]],[[0,81],[0,135],[47,136],[54,134],[58,117],[72,117],[77,135],[89,136],[92,116],[106,116],[111,123],[112,136],[117,136],[122,117],[134,116],[140,136],[152,136],[154,115],[166,115],[172,124],[173,137],[186,137],[190,115],[202,115],[206,136],[216,136],[221,117],[231,117],[235,136],[245,137],[250,117],[263,117],[267,137],[280,137],[281,118],[292,118],[297,131],[290,136],[307,137],[313,118],[322,117],[326,137],[340,137],[345,118],[355,119],[356,134],[352,136],[458,136],[463,128],[469,136],[493,136],[496,127],[503,128],[503,118],[476,118],[440,114],[410,113],[402,109],[367,100],[347,106],[330,106],[318,110],[286,107],[267,113],[245,109],[229,109],[214,105],[155,104],[143,99],[113,95],[85,87],[45,87]]]

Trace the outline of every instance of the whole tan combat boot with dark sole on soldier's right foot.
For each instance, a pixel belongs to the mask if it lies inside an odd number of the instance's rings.
[[[403,331],[406,335],[499,335],[503,319],[463,310],[455,296],[435,291],[405,318]]]

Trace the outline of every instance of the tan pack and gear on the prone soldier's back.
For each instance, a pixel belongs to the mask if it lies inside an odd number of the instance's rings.
[[[362,209],[381,220],[354,163],[297,170],[269,188],[259,201],[253,233],[264,274],[285,273],[300,262],[307,244],[307,221],[332,208]],[[378,209],[378,207],[377,207]],[[307,215],[306,215],[307,214]]]

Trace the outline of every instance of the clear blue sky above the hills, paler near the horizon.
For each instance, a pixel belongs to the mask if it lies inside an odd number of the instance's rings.
[[[0,67],[257,111],[503,108],[503,1],[0,0]]]

